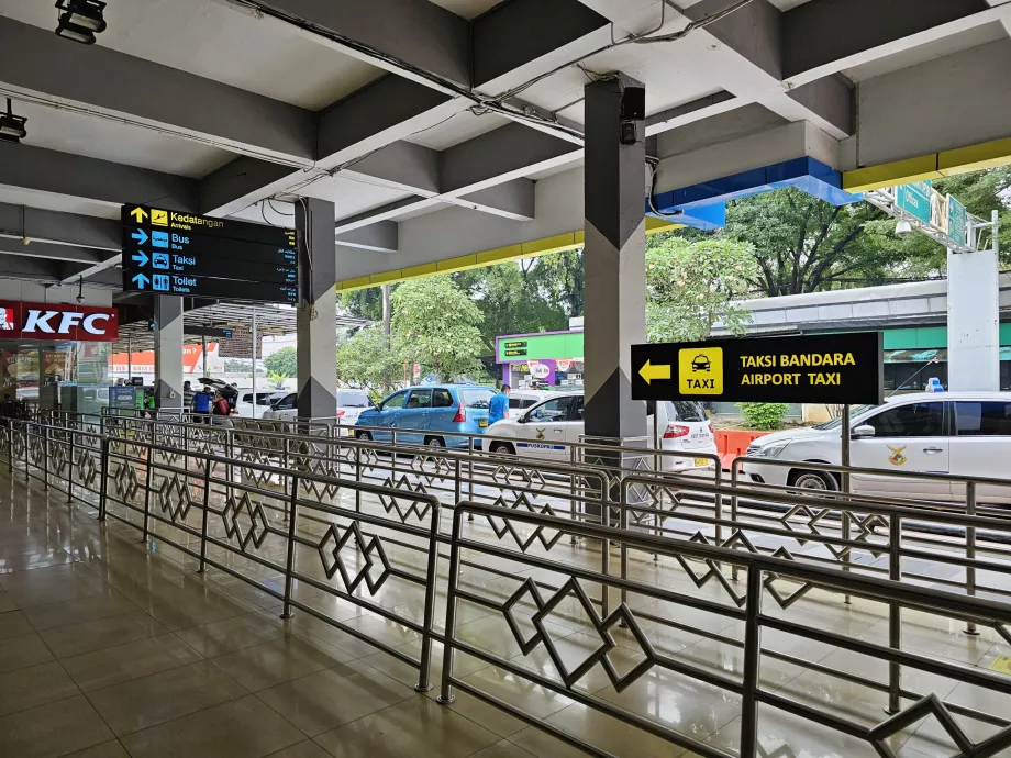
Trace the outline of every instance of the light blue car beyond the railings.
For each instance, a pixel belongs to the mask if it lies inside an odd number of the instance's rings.
[[[479,384],[409,387],[363,411],[355,425],[398,430],[397,442],[408,445],[467,447],[467,438],[453,436],[454,433],[484,434],[493,397],[495,390]],[[359,430],[355,436],[389,442],[393,435],[374,428]]]

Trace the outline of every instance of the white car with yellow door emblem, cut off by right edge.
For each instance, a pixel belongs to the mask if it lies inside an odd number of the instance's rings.
[[[1011,392],[920,392],[889,398],[884,405],[851,411],[849,462],[857,468],[930,471],[1003,478],[1011,460]],[[837,490],[838,478],[804,462],[838,465],[842,420],[806,430],[776,432],[747,448],[756,458],[797,461],[793,466],[744,465],[755,482]],[[1009,482],[1011,483],[1011,482]],[[865,473],[851,476],[853,492],[922,500],[963,501],[965,487]],[[1011,487],[981,486],[982,502],[1011,503]]]

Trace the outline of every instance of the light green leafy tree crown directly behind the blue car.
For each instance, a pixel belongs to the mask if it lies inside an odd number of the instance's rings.
[[[480,371],[482,315],[448,276],[411,279],[392,296],[393,349],[442,381]]]

